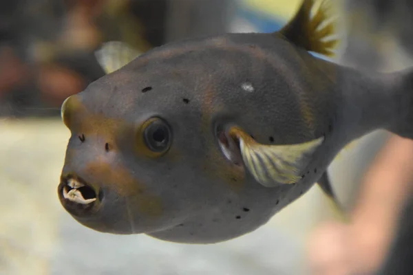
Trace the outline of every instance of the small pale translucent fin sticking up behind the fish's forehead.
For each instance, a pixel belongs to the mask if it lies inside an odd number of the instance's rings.
[[[127,65],[139,55],[138,51],[120,41],[103,43],[100,49],[95,52],[96,59],[106,74]]]

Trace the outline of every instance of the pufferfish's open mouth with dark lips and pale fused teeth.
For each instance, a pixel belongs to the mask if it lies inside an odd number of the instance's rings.
[[[96,192],[96,188],[91,184],[74,175],[61,178],[58,195],[65,210],[76,217],[85,217],[96,212],[103,200],[103,190]]]

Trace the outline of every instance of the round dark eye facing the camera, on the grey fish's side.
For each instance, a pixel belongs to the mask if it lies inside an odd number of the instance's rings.
[[[167,122],[151,118],[144,127],[143,139],[147,148],[155,153],[165,153],[171,144],[171,129]]]

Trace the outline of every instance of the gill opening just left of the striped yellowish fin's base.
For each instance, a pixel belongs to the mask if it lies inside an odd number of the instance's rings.
[[[229,126],[224,127],[220,125],[215,129],[215,135],[224,157],[232,164],[242,166],[240,140],[229,134],[230,129],[231,127]]]

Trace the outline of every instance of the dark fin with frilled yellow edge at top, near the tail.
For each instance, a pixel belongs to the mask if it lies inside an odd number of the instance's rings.
[[[312,17],[317,3],[318,9]],[[332,20],[331,0],[304,0],[295,17],[277,33],[310,52],[333,56],[333,49],[339,40],[326,39],[335,34],[336,29],[337,21]]]

